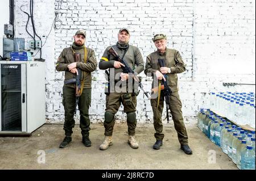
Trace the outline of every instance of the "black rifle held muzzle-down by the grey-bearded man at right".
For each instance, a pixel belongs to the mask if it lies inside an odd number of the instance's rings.
[[[158,63],[160,68],[166,67],[166,62],[163,58],[158,58]],[[170,110],[170,95],[172,93],[171,88],[169,87],[168,76],[163,74],[166,81],[162,80],[162,84],[164,85],[164,99],[166,100],[166,117],[167,123],[169,123],[169,110]]]

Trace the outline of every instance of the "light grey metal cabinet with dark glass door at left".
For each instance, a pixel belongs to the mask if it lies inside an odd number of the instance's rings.
[[[45,65],[0,61],[0,136],[31,134],[46,122]]]

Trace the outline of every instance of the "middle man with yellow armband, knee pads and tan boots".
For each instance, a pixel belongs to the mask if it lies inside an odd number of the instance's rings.
[[[113,85],[116,87],[119,82],[124,82],[124,89],[122,86],[122,91],[119,92],[116,89],[114,91],[105,92],[106,94],[106,110],[105,110],[105,139],[100,145],[101,150],[106,150],[109,146],[113,145],[112,134],[115,124],[115,113],[117,113],[121,103],[123,104],[123,111],[127,115],[127,126],[128,126],[128,144],[133,149],[139,148],[138,142],[135,140],[135,128],[137,125],[136,119],[136,106],[137,106],[137,95],[134,90],[128,91],[126,87],[129,87],[128,79],[133,79],[129,74],[125,73],[122,69],[123,65],[121,62],[117,61],[115,57],[109,53],[110,48],[114,48],[120,57],[126,60],[127,64],[134,70],[135,73],[139,74],[144,70],[144,61],[142,54],[137,47],[129,45],[130,31],[127,28],[121,28],[118,32],[118,41],[115,45],[111,45],[105,49],[103,53],[99,68],[101,70],[113,71],[114,77],[109,79],[113,80]],[[108,76],[109,77],[109,76]],[[111,81],[111,80],[110,80]],[[112,87],[110,84],[108,87]],[[115,88],[114,87],[114,88]]]

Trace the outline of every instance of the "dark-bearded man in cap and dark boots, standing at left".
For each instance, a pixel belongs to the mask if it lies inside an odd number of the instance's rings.
[[[80,128],[82,143],[88,147],[92,145],[89,139],[90,119],[89,107],[92,92],[92,71],[97,68],[97,60],[93,49],[85,47],[85,30],[78,30],[73,36],[74,42],[71,47],[64,48],[56,62],[57,71],[65,71],[65,81],[63,86],[63,106],[65,110],[64,131],[65,138],[60,144],[60,148],[68,146],[72,141],[72,128],[75,127],[74,114],[76,110],[76,75],[78,69],[81,70],[81,92],[78,106],[80,112]],[[75,61],[75,54],[80,57],[80,61]]]

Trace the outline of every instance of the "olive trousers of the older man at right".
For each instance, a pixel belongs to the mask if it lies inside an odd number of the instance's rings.
[[[154,113],[154,128],[155,128],[155,138],[156,140],[160,141],[164,138],[163,133],[163,124],[162,124],[162,113],[163,113],[163,107],[164,107],[164,96],[163,92],[161,92],[160,102],[158,106],[158,111],[156,112],[158,99],[151,99],[150,100],[152,110]],[[172,92],[170,95],[170,110],[172,119],[174,120],[174,127],[177,132],[177,137],[181,145],[187,145],[188,144],[188,134],[185,128],[185,124],[183,121],[183,115],[181,111],[181,100],[179,97],[179,93]],[[166,113],[166,112],[165,112]]]

